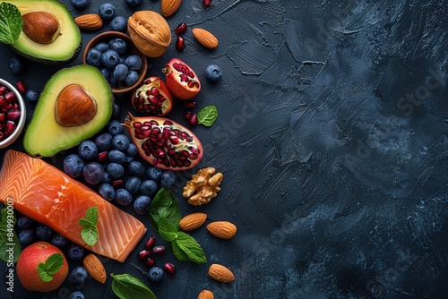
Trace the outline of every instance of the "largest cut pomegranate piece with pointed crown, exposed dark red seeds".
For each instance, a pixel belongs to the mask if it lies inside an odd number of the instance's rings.
[[[202,158],[201,141],[182,124],[159,116],[134,117],[123,124],[142,158],[161,169],[186,170]]]

